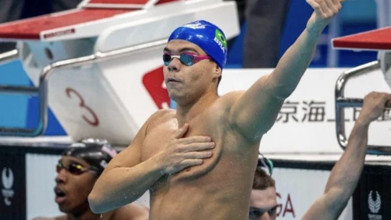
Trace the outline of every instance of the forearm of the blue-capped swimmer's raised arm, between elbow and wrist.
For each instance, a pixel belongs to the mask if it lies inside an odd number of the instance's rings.
[[[297,87],[305,70],[311,63],[321,30],[308,27],[284,53],[269,81],[276,88],[275,94],[287,98]]]

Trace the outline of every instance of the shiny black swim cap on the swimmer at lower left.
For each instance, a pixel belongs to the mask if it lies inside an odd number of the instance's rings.
[[[117,152],[105,139],[86,138],[71,144],[63,156],[73,156],[86,161],[101,175]]]

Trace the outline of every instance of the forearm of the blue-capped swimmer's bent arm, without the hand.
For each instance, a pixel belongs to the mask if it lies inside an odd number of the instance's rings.
[[[134,166],[104,172],[88,196],[94,213],[108,212],[140,198],[162,176],[154,157]]]

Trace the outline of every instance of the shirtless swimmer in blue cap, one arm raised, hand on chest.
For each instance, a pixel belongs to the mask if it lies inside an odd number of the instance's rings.
[[[129,147],[109,162],[88,196],[92,211],[109,211],[149,191],[150,220],[247,220],[261,137],[297,87],[339,7],[339,0],[319,1],[270,75],[246,91],[221,96],[217,86],[227,59],[223,31],[206,21],[174,29],[162,63],[176,110],[154,112]]]

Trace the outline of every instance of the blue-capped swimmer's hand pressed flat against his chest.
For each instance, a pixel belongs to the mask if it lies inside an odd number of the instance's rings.
[[[187,167],[202,164],[203,159],[212,156],[215,142],[208,136],[183,137],[189,125],[185,124],[172,137],[167,147],[160,152],[158,163],[163,174],[174,174]]]

